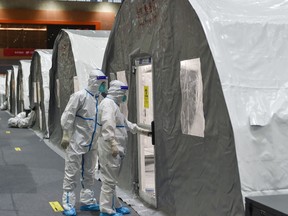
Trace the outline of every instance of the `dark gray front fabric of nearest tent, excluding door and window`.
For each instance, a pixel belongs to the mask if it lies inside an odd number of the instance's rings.
[[[151,10],[145,10],[147,7]],[[153,59],[159,209],[170,215],[192,211],[195,215],[244,215],[230,117],[210,47],[189,1],[165,0],[161,5],[125,1],[118,12],[103,70],[110,79],[118,71],[128,73],[129,120],[134,122],[136,88],[131,60],[143,55]],[[201,61],[204,138],[181,133],[180,61],[193,58]],[[130,165],[137,163],[135,142],[135,136],[129,136],[120,180],[121,187],[128,189],[131,182],[137,182],[137,168]]]

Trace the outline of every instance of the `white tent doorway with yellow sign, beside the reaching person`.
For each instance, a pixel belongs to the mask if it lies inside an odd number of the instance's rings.
[[[151,58],[137,59],[136,73],[137,124],[151,130],[153,114],[153,76]],[[138,134],[139,195],[156,207],[155,154],[152,138]]]

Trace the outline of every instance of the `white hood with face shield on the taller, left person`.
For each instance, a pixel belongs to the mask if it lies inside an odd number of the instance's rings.
[[[107,82],[107,77],[105,74],[99,69],[92,70],[89,74],[87,90],[93,95],[99,95],[99,87],[103,82]]]

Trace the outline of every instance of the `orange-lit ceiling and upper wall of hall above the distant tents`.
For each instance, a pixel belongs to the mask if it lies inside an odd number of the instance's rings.
[[[52,49],[62,28],[110,30],[120,3],[121,0],[1,0],[0,73],[6,73],[7,67],[18,64],[20,59],[30,59],[34,49]]]

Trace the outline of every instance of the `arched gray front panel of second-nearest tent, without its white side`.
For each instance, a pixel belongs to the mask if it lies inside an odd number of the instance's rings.
[[[74,92],[75,63],[68,34],[62,30],[54,43],[50,69],[49,137],[60,145],[62,139],[61,115]]]

